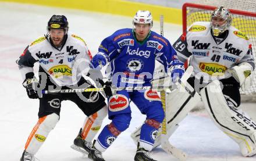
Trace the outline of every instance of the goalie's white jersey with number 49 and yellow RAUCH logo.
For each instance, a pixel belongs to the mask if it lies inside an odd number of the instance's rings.
[[[242,62],[255,67],[248,37],[232,26],[226,37],[217,38],[211,34],[210,22],[195,22],[173,47],[182,62],[190,58],[189,65],[194,67],[195,77],[203,76],[205,81],[231,77],[227,69]]]

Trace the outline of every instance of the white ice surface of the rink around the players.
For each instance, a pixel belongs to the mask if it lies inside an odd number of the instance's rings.
[[[52,15],[66,15],[72,33],[83,37],[92,53],[97,52],[103,38],[119,28],[131,27],[131,17],[104,15],[102,13],[83,12],[47,8],[33,5],[0,2],[0,160],[17,161],[22,155],[24,144],[30,131],[37,123],[37,99],[29,99],[22,86],[15,60],[24,48],[37,37],[46,34],[46,27]],[[154,15],[153,15],[154,16]],[[172,15],[170,15],[172,16]],[[154,31],[159,32],[159,23],[154,22]],[[182,26],[165,24],[165,37],[173,43],[182,33]],[[242,104],[251,115],[255,103]],[[132,106],[130,127],[123,132],[104,154],[105,160],[133,160],[136,145],[130,134],[144,121],[136,106]],[[89,160],[70,148],[83,123],[84,115],[72,102],[62,103],[61,120],[49,134],[36,157],[42,160],[67,161]],[[109,123],[104,120],[104,125]],[[211,161],[255,161],[254,158],[241,156],[239,146],[215,127],[207,113],[190,113],[169,139],[171,144],[188,153],[187,160]],[[161,148],[152,152],[157,160],[177,160]]]

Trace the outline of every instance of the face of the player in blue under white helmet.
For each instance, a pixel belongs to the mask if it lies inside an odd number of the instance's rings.
[[[150,24],[135,24],[135,33],[138,41],[143,41],[150,33]]]

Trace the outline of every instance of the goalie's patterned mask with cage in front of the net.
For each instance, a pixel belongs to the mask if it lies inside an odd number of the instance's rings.
[[[211,28],[215,36],[226,31],[232,23],[230,11],[221,6],[216,8],[211,15]]]

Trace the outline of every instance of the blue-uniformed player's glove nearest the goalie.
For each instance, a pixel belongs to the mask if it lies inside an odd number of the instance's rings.
[[[172,82],[176,83],[177,78],[181,78],[185,72],[184,65],[179,60],[173,60],[170,67],[170,76],[172,77]]]

